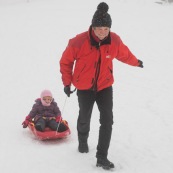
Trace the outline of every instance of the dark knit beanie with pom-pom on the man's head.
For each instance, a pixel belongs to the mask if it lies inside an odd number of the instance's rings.
[[[94,13],[92,19],[92,27],[109,27],[111,28],[112,19],[111,16],[107,13],[109,6],[105,2],[101,2],[97,6],[97,10]]]

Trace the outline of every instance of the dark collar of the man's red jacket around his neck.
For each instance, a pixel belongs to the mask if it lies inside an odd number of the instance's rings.
[[[111,44],[111,37],[110,37],[110,32],[109,35],[104,39],[104,40],[97,40],[97,38],[94,38],[92,34],[92,26],[89,28],[89,37],[90,37],[90,43],[92,46],[96,47],[97,49],[99,46],[105,45],[105,44]]]

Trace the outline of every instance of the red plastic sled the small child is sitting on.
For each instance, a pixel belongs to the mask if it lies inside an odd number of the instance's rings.
[[[44,132],[40,132],[37,131],[35,129],[34,123],[30,122],[28,124],[29,129],[31,130],[31,132],[39,139],[39,140],[49,140],[49,139],[61,139],[61,138],[65,138],[68,135],[71,134],[71,131],[69,129],[69,126],[67,124],[67,122],[65,120],[63,120],[63,122],[66,124],[66,126],[68,127],[68,129],[64,132],[57,132],[57,131],[52,131],[50,128],[45,128]]]

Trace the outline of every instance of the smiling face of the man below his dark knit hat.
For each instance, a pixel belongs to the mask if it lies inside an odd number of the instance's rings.
[[[100,39],[103,40],[105,37],[108,36],[110,28],[109,27],[93,27],[95,35]]]

